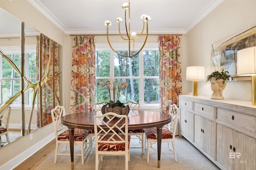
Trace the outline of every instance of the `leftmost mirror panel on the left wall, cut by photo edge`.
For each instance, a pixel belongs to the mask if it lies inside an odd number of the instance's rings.
[[[9,141],[22,136],[21,114],[21,69],[22,54],[22,21],[0,8],[0,115],[3,117],[5,108],[10,108],[8,128]],[[4,54],[4,55],[3,55]],[[10,99],[13,100],[10,100]],[[8,102],[10,101],[10,102]],[[6,104],[6,106],[4,106]],[[1,122],[1,125],[4,125]],[[6,135],[1,136],[0,145],[6,145]]]

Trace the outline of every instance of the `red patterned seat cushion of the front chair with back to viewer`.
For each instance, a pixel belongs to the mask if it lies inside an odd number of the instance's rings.
[[[106,135],[102,141],[107,141],[112,135]],[[102,137],[102,135],[100,136],[100,138]],[[124,135],[120,135],[120,137],[122,137],[122,139],[125,138]],[[99,138],[99,139],[100,139]],[[116,141],[120,141],[120,138],[117,137],[116,135],[113,137],[114,140]],[[128,135],[128,149],[130,148],[130,139],[131,139],[131,136]],[[125,143],[99,143],[98,145],[98,150],[99,151],[119,151],[119,150],[122,150],[122,151],[125,151]]]

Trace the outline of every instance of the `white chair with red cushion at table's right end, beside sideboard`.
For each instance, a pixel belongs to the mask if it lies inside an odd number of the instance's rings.
[[[177,122],[179,117],[179,109],[175,104],[170,105],[169,114],[172,116],[172,120],[170,123],[168,123],[165,127],[162,128],[162,142],[168,143],[168,148],[170,151],[166,151],[166,152],[161,151],[161,153],[173,153],[174,159],[175,161],[177,161],[174,141],[175,141],[175,132],[176,132],[176,127],[177,127]],[[149,162],[149,154],[157,153],[157,152],[150,152],[150,147],[152,147],[154,143],[157,143],[156,127],[144,129],[144,131],[145,131],[145,136],[147,141],[147,162]],[[170,146],[170,142],[172,142],[173,149]]]

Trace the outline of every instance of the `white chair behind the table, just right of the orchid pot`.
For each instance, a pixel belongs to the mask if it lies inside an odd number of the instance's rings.
[[[124,102],[124,104],[128,104],[130,107],[130,110],[138,110],[140,111],[140,103],[128,101]],[[132,113],[129,113],[132,115]],[[139,143],[141,143],[141,147],[130,147],[132,149],[142,149],[142,153],[144,153],[144,129],[136,129],[136,130],[128,130],[129,135],[136,136],[139,139]]]

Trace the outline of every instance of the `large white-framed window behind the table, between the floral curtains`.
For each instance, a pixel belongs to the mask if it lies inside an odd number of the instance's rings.
[[[158,45],[144,48],[138,55],[128,58],[114,53],[106,44],[106,49],[97,48],[96,44],[96,84],[113,79],[115,86],[121,81],[128,82],[126,90],[120,92],[121,102],[140,102],[140,106],[159,108],[159,56]],[[127,55],[128,51],[117,51]],[[116,93],[116,92],[115,92]],[[116,96],[116,94],[115,94]],[[96,102],[109,101],[108,90],[96,86]],[[113,95],[111,92],[111,100]]]

